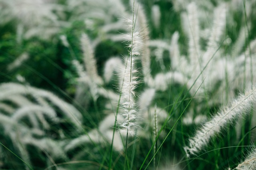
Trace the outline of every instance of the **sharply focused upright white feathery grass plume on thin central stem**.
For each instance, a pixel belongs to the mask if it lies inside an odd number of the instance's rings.
[[[140,55],[140,46],[142,44],[141,33],[135,31],[134,19],[134,3],[133,1],[133,17],[132,20],[127,19],[128,28],[131,28],[131,34],[126,34],[128,41],[129,57],[126,59],[126,67],[119,75],[120,78],[120,93],[121,93],[121,114],[124,121],[120,124],[119,130],[121,133],[134,135],[136,133],[137,110],[135,103],[135,88],[138,86],[135,68],[136,56]]]

